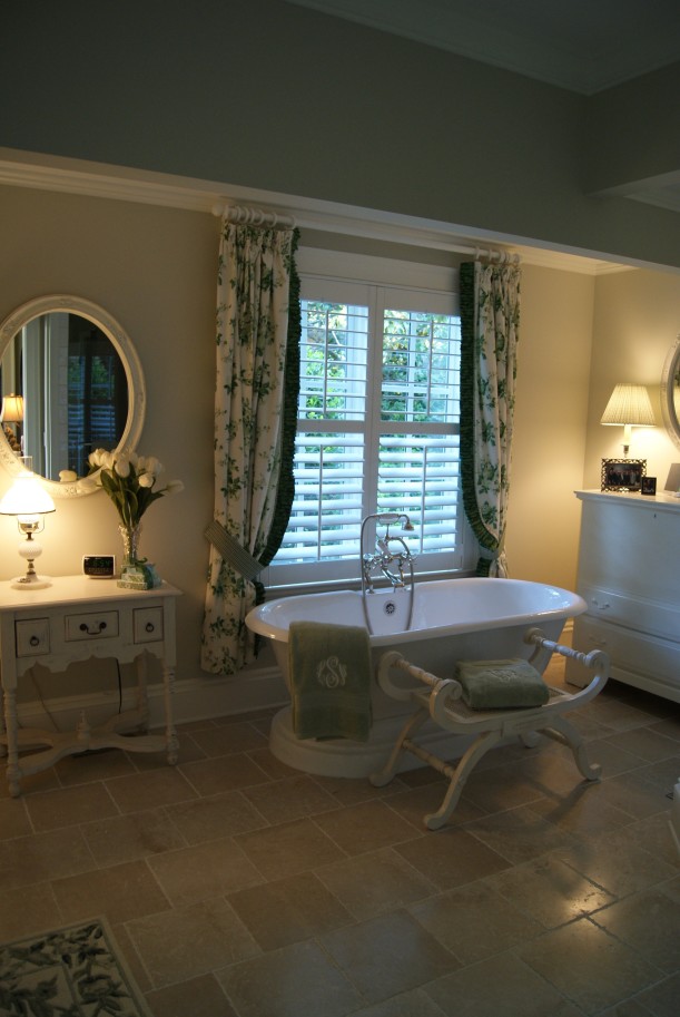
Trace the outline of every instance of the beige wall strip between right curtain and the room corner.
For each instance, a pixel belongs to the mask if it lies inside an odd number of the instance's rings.
[[[520,579],[575,584],[595,282],[522,271],[506,549]]]

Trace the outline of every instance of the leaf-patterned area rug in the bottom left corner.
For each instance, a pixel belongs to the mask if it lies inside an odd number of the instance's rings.
[[[0,1014],[151,1017],[100,918],[0,946]]]

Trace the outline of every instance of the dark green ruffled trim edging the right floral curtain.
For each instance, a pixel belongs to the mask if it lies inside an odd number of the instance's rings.
[[[464,262],[460,271],[461,293],[461,482],[463,507],[467,521],[480,547],[493,555],[499,541],[487,531],[477,506],[474,480],[474,400],[475,400],[475,346],[474,346],[474,262]],[[487,576],[491,556],[480,556],[477,576]]]

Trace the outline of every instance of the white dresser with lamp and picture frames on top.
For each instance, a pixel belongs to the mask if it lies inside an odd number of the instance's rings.
[[[576,491],[578,591],[588,612],[573,645],[611,657],[612,678],[680,703],[680,499]],[[578,668],[566,679],[580,685]]]

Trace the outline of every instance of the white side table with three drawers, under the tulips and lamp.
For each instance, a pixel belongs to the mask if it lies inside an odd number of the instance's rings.
[[[0,583],[0,668],[4,700],[4,730],[0,725],[0,753],[7,746],[10,794],[20,794],[22,776],[38,773],[66,755],[89,749],[128,752],[167,752],[177,762],[178,742],[173,722],[175,681],[175,605],[180,590],[164,583],[159,589],[132,590],[115,579],[60,576],[46,589],[17,590]],[[126,736],[121,731],[148,723],[146,654],[162,664],[165,735]],[[33,665],[65,671],[75,661],[112,657],[136,662],[137,710],[116,714],[102,727],[90,728],[85,714],[75,732],[19,730],[17,684]],[[19,757],[20,746],[45,745]]]

